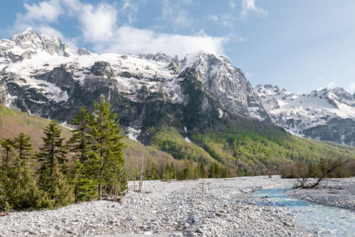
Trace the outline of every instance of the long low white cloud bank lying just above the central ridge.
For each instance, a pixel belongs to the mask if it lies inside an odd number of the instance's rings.
[[[177,35],[155,33],[151,30],[141,30],[122,26],[116,30],[114,38],[96,45],[99,52],[109,53],[168,53],[184,57],[187,53],[200,50],[209,53],[223,53],[224,43],[229,39],[224,37],[211,37],[200,35]]]

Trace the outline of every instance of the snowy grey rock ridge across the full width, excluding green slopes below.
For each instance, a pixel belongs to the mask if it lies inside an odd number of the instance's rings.
[[[65,123],[104,95],[129,138],[143,143],[153,126],[190,133],[240,114],[297,136],[354,145],[354,95],[312,93],[322,101],[317,110],[288,107],[301,96],[268,85],[254,89],[223,55],[98,55],[31,28],[0,40],[0,104]]]

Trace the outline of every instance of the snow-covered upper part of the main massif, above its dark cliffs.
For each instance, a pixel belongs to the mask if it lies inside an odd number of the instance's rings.
[[[61,67],[82,87],[102,76],[114,80],[114,87],[127,99],[139,101],[137,93],[146,89],[148,93],[160,93],[161,99],[172,103],[185,103],[187,95],[182,93],[180,75],[193,68],[195,77],[202,82],[206,92],[217,99],[224,109],[268,120],[261,101],[253,92],[251,84],[239,68],[222,55],[197,52],[178,60],[175,55],[165,53],[146,55],[96,54],[85,49],[72,50],[53,35],[38,34],[32,28],[13,35],[10,40],[0,40],[0,74],[11,75],[6,83],[14,82],[20,87],[32,87],[43,92],[53,101],[67,101],[65,89],[57,83],[43,79],[42,75]],[[99,73],[99,71],[104,73]],[[92,83],[89,83],[92,84]],[[11,93],[10,93],[11,94]],[[10,104],[16,104],[16,97]],[[43,103],[43,99],[37,101]],[[33,112],[33,111],[31,111]]]

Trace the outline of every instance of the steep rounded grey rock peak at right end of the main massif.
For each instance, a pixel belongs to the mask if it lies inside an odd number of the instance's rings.
[[[180,61],[182,71],[194,68],[194,76],[204,89],[226,109],[247,117],[269,121],[261,101],[241,70],[223,55],[200,51]]]

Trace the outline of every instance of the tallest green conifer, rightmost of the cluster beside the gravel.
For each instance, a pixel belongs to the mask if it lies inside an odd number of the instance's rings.
[[[117,114],[111,110],[111,104],[104,101],[94,101],[92,121],[89,126],[91,136],[94,140],[92,145],[91,165],[96,170],[95,179],[99,192],[99,199],[105,191],[112,193],[121,192],[126,189],[127,178],[124,174],[124,157],[122,148],[124,143],[121,139],[121,129]],[[109,190],[111,189],[111,190]]]

